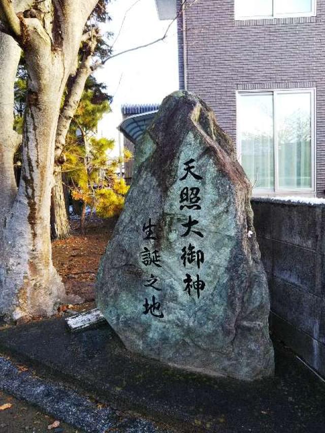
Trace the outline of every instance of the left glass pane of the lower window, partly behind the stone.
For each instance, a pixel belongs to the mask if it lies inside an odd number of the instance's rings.
[[[240,97],[241,163],[254,188],[274,188],[273,95]]]

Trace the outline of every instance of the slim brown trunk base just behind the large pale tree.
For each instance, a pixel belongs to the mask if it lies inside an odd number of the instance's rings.
[[[70,224],[60,170],[54,171],[53,180],[54,186],[51,194],[51,238],[66,239],[70,236]]]

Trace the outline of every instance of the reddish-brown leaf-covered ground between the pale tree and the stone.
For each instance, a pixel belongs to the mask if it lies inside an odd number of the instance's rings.
[[[81,236],[78,220],[72,220],[72,236],[52,242],[53,263],[66,285],[68,294],[81,296],[85,302],[94,299],[94,282],[100,259],[112,235],[115,219],[92,217],[86,235]]]

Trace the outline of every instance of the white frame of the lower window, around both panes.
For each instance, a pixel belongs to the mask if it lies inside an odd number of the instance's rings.
[[[279,172],[278,172],[278,137],[276,134],[276,98],[279,94],[287,93],[310,93],[311,96],[311,187],[310,188],[295,188],[295,189],[284,189],[279,188]],[[315,193],[316,186],[316,88],[299,88],[299,89],[258,89],[258,90],[237,90],[236,91],[236,147],[237,147],[237,158],[241,164],[241,131],[240,131],[240,101],[239,98],[243,95],[251,94],[273,94],[273,136],[274,136],[274,188],[253,188],[253,195],[301,195]]]

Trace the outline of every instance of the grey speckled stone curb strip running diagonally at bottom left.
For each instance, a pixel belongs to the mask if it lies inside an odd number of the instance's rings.
[[[40,379],[29,370],[21,371],[9,359],[0,357],[0,389],[40,407],[53,417],[87,433],[172,433],[158,429],[151,421],[100,407],[86,396],[58,383]]]

